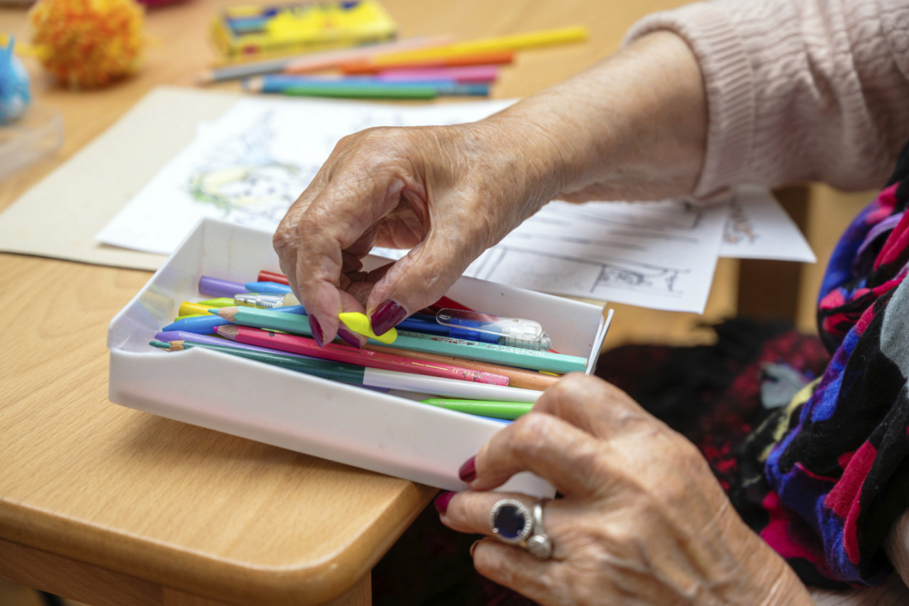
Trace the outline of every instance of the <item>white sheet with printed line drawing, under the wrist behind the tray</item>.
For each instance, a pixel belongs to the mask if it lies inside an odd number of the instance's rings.
[[[678,201],[551,202],[464,275],[544,293],[701,313],[728,214],[728,205],[697,208]]]

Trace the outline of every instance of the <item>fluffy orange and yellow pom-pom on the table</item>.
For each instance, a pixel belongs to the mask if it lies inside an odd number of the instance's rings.
[[[47,71],[71,88],[94,88],[135,72],[143,16],[134,0],[39,0],[29,20]]]

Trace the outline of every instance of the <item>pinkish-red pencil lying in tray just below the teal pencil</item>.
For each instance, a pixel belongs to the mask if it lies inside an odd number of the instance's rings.
[[[450,364],[415,360],[393,353],[358,350],[350,345],[342,345],[340,343],[328,343],[324,347],[319,347],[314,340],[296,334],[275,333],[274,331],[239,325],[216,326],[215,332],[237,343],[261,345],[281,350],[282,352],[303,353],[315,358],[356,364],[367,368],[425,374],[433,377],[481,382],[490,385],[508,384],[508,377],[501,374],[484,373]]]

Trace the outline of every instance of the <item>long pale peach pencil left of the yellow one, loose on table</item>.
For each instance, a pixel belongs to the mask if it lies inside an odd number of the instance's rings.
[[[376,45],[327,51],[325,53],[306,53],[305,55],[295,55],[292,57],[277,57],[266,61],[225,65],[223,67],[206,70],[197,75],[195,81],[197,84],[210,84],[214,82],[223,82],[225,80],[248,78],[254,75],[274,74],[281,71],[302,74],[304,72],[330,69],[344,62],[359,61],[380,53],[445,45],[450,42],[451,36],[419,37]]]

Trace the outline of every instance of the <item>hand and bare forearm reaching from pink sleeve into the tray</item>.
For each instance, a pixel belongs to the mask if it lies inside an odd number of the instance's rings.
[[[345,137],[275,233],[316,341],[334,338],[342,311],[365,308],[381,334],[435,303],[485,248],[554,197],[689,193],[704,155],[705,107],[694,55],[681,38],[656,32],[483,121]],[[374,244],[414,248],[367,275],[360,260]]]

